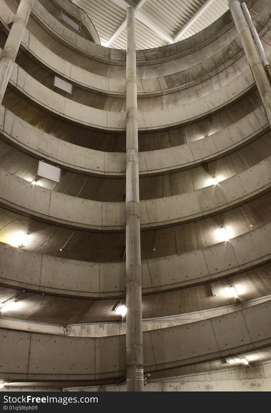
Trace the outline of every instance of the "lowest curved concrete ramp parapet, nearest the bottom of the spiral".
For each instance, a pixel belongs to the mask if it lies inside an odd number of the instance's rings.
[[[270,305],[266,302],[204,323],[144,332],[145,373],[165,377],[166,369],[175,368],[178,374],[178,368],[188,363],[234,356],[270,345]],[[85,380],[124,375],[124,336],[82,339],[1,329],[0,338],[5,355],[1,367],[3,380],[37,380],[40,375],[43,380],[80,380],[83,372]],[[20,354],[14,351],[18,345]],[[42,351],[44,347],[47,352]],[[84,353],[93,356],[84,358]],[[78,361],[74,364],[75,357]],[[159,374],[161,369],[165,370]]]

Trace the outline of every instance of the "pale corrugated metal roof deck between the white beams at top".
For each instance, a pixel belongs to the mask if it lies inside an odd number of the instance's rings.
[[[137,0],[74,0],[84,9],[92,20],[102,45],[106,45],[116,30],[126,19],[125,3],[136,6]],[[206,0],[146,0],[138,10],[144,17],[174,38],[183,26],[206,3]],[[121,7],[123,6],[124,7]],[[212,24],[228,10],[227,0],[213,0],[202,14],[182,34],[179,40],[185,39]],[[150,49],[169,44],[164,36],[136,20],[136,47]],[[116,37],[110,47],[126,49],[126,27]]]

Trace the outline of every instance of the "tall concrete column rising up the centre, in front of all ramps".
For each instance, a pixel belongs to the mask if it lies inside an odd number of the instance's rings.
[[[126,385],[143,391],[135,9],[127,9],[126,57]]]

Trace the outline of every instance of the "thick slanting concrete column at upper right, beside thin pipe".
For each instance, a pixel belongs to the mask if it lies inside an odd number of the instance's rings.
[[[271,85],[243,13],[241,1],[243,0],[228,0],[228,4],[271,127]]]

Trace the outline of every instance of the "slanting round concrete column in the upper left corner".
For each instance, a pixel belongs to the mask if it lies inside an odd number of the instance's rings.
[[[0,104],[14,66],[34,0],[21,0],[0,58]]]

